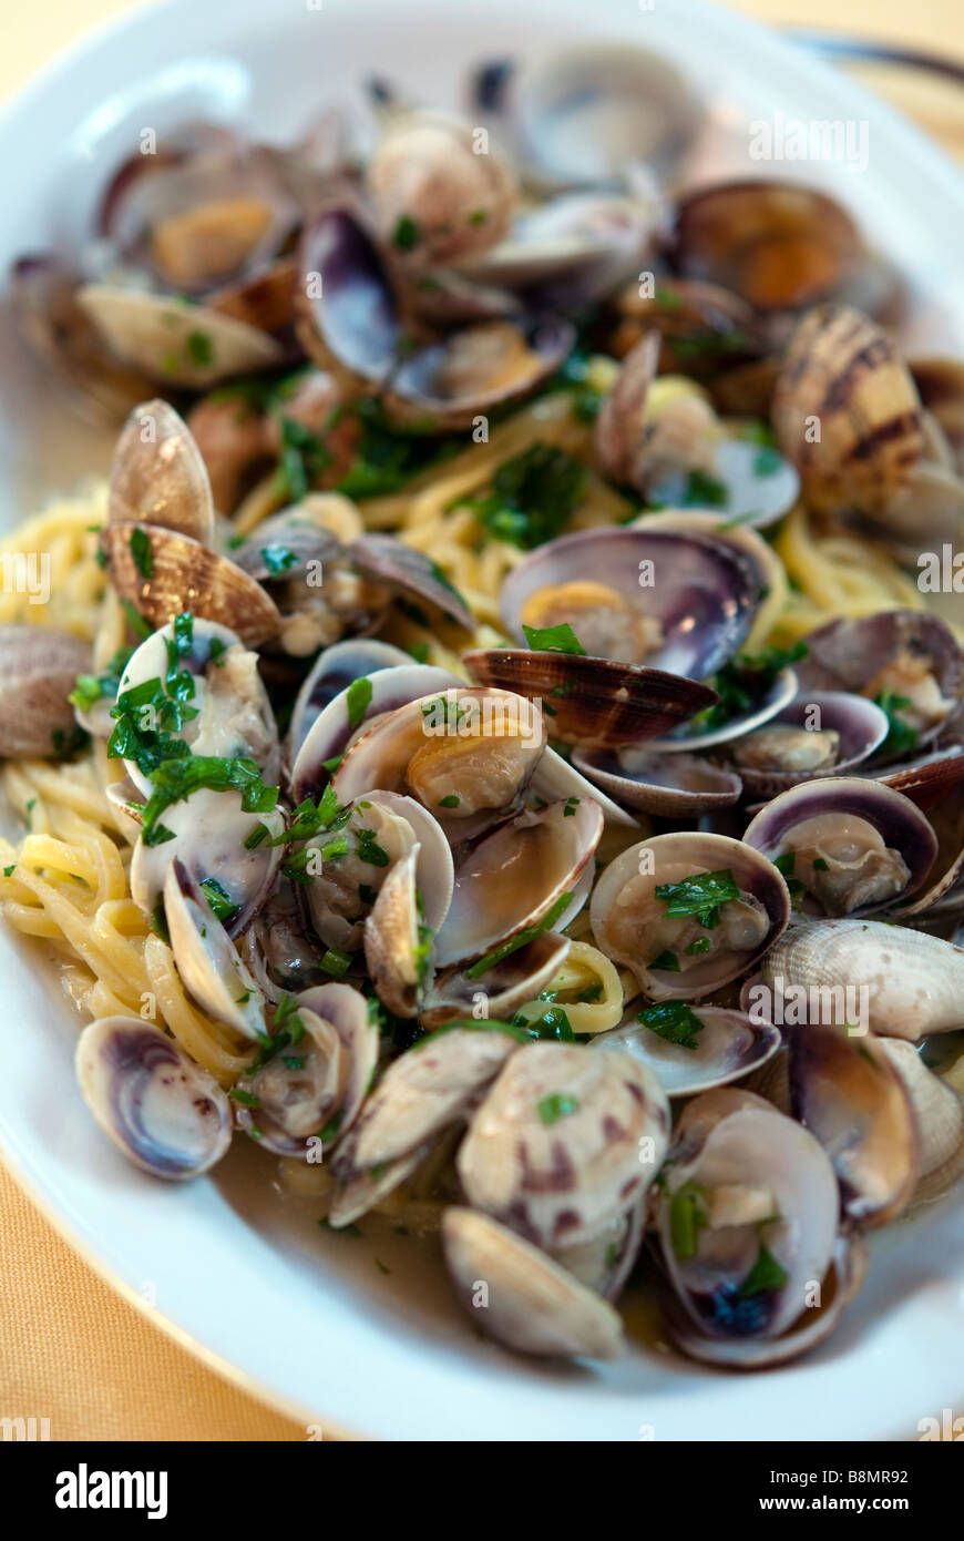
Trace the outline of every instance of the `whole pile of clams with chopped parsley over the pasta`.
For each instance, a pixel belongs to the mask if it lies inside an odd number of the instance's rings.
[[[122,421],[128,644],[0,630],[0,755],[92,740],[134,903],[243,1066],[91,1022],[80,1091],[139,1168],[237,1131],[320,1168],[334,1230],[413,1205],[508,1348],[616,1358],[633,1281],[682,1353],[765,1368],[964,1173],[961,616],[801,640],[778,556],[801,509],[910,570],[956,541],[964,371],[902,356],[827,196],[691,182],[664,60],[471,91],[380,83],[286,149],[194,125],[115,168],[89,248],[17,264],[31,344]],[[482,627],[367,505],[524,401],[577,452],[462,479],[508,552]]]

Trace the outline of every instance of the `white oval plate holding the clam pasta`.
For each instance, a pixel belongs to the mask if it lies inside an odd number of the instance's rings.
[[[172,0],[63,59],[0,122],[0,262],[68,239],[123,142],[211,103],[269,137],[293,133],[323,89],[370,72],[433,102],[457,100],[471,59],[571,37],[636,39],[711,92],[716,159],[741,170],[745,123],[785,117],[869,125],[869,170],[779,163],[845,199],[919,290],[933,339],[964,330],[964,185],[942,156],[849,80],[696,0],[654,9],[601,0]],[[129,142],[129,140],[128,140]],[[708,165],[708,162],[707,162]],[[742,162],[744,171],[767,171]],[[109,442],[77,427],[0,331],[0,465],[8,522],[38,495],[103,470]],[[183,1341],[254,1390],[322,1424],[388,1439],[913,1438],[961,1408],[964,1204],[944,1202],[875,1242],[870,1281],[807,1361],[725,1376],[639,1347],[602,1370],[545,1368],[477,1341],[434,1265],[411,1244],[319,1230],[279,1200],[271,1163],[239,1148],[214,1180],[156,1183],[123,1163],[72,1076],[77,1022],[42,952],[0,937],[5,1012],[0,1136],[14,1171],[68,1239]],[[145,1387],[145,1398],[152,1388]],[[650,1433],[651,1430],[651,1433]]]

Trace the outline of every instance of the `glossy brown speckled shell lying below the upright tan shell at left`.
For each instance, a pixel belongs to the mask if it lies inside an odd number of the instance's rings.
[[[151,549],[149,562],[142,558],[142,566],[131,550],[137,530]],[[123,521],[105,525],[100,550],[120,598],[129,599],[154,629],[189,610],[229,626],[246,647],[260,647],[280,627],[277,606],[254,578],[186,535],[157,524]],[[149,573],[142,567],[149,567]]]

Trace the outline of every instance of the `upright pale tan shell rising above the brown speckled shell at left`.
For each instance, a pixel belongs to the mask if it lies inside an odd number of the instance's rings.
[[[214,544],[211,479],[183,418],[154,398],[132,408],[111,462],[108,518]]]

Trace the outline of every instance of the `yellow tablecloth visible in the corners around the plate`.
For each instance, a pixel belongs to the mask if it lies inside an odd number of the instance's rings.
[[[203,0],[202,0],[203,3]],[[211,3],[211,0],[206,0]],[[525,0],[522,0],[525,3]],[[587,5],[590,0],[587,0]],[[964,59],[961,0],[739,0],[779,23],[847,29]],[[3,18],[0,100],[129,0],[45,0]],[[870,83],[964,160],[964,91],[895,71]],[[0,1167],[0,1416],[49,1418],[52,1439],[303,1439],[120,1299]]]

